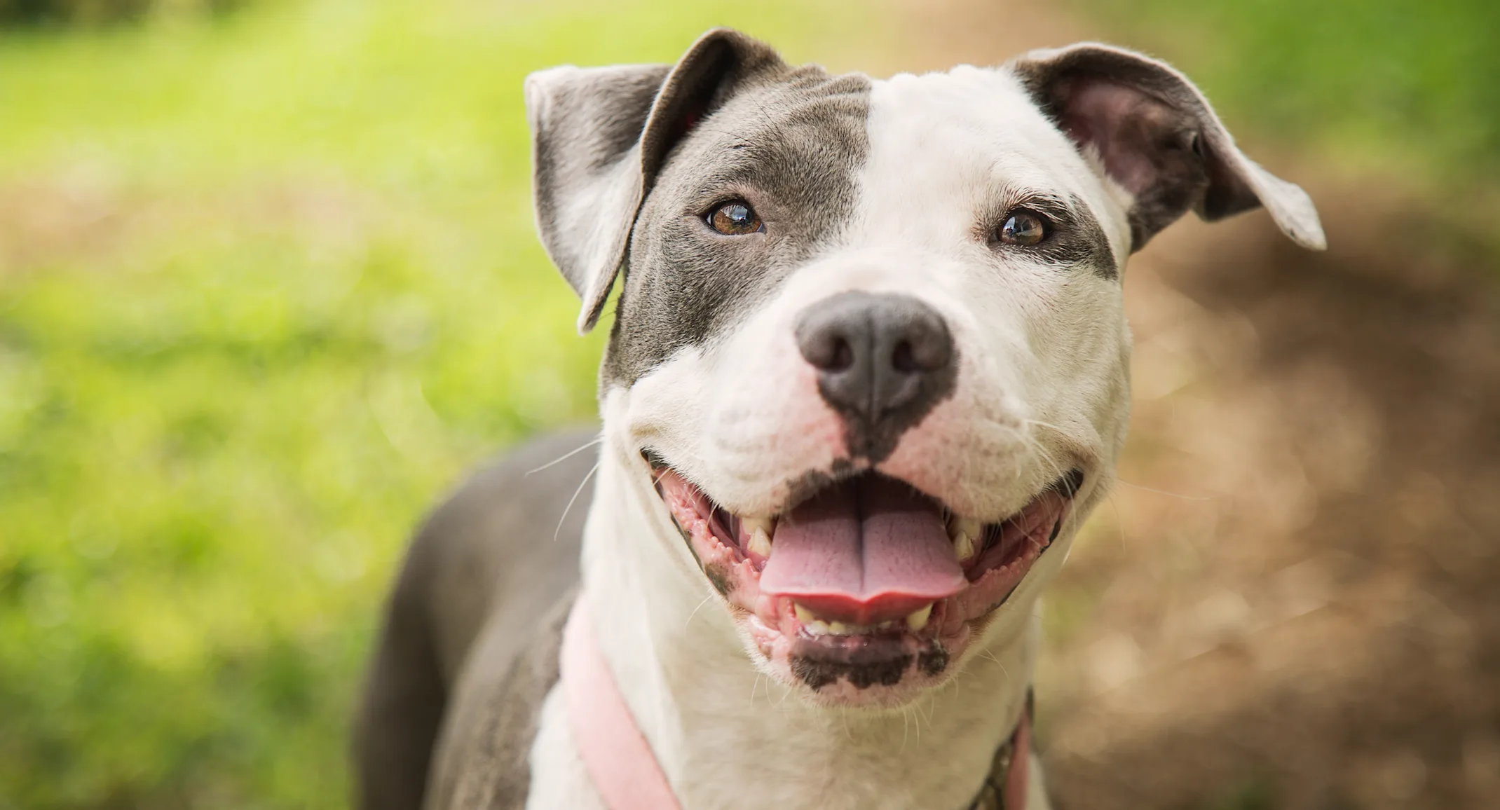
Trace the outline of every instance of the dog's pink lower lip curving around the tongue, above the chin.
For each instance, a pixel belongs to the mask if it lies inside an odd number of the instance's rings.
[[[918,648],[952,651],[952,642],[966,638],[969,624],[999,609],[1029,574],[1035,561],[1058,537],[1071,512],[1074,495],[1083,484],[1082,470],[1072,470],[1042,488],[1022,510],[1010,518],[978,524],[980,537],[970,538],[972,552],[960,560],[968,585],[957,594],[918,606],[906,622],[884,621],[870,627],[840,626],[808,615],[789,597],[760,592],[759,576],[768,556],[747,525],[774,525],[777,516],[736,516],[717,506],[708,495],[676,472],[660,454],[650,450],[642,456],[651,465],[656,489],[666,502],[674,524],[698,558],[699,567],[720,594],[736,608],[742,620],[752,622],[752,636],[762,652],[780,645],[784,651],[795,644],[801,651],[848,650],[858,639],[906,639]],[[1041,524],[1038,520],[1046,520]],[[950,519],[952,532],[956,519]],[[969,525],[976,522],[970,520]],[[774,538],[768,546],[774,554]],[[786,644],[782,644],[782,642]]]

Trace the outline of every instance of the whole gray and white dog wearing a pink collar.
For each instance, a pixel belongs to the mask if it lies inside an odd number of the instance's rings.
[[[1098,44],[878,81],[712,30],[525,98],[580,332],[620,286],[602,429],[417,532],[362,807],[1048,807],[1035,609],[1125,438],[1125,262],[1188,210],[1322,249],[1308,195]]]

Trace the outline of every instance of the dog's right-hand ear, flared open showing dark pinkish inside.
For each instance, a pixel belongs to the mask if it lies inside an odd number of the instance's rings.
[[[1170,66],[1083,42],[1032,51],[1011,68],[1078,148],[1136,196],[1131,250],[1190,208],[1212,222],[1256,206],[1292,242],[1326,246],[1306,192],[1246,158],[1203,93]]]

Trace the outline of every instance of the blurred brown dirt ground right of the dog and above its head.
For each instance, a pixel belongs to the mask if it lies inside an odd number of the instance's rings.
[[[1014,4],[910,16],[904,69],[1108,36]],[[1500,270],[1374,178],[1268,164],[1328,252],[1252,213],[1126,270],[1122,483],[1036,675],[1056,802],[1500,807]]]

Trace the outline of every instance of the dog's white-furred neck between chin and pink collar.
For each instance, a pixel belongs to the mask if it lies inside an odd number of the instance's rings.
[[[904,711],[810,705],[760,675],[628,450],[606,441],[584,586],[620,690],[684,807],[968,807],[1024,705],[1030,604]]]

